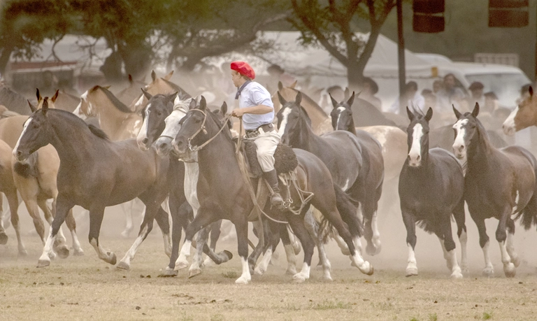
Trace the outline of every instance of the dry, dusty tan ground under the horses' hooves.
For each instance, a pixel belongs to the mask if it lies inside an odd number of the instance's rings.
[[[87,242],[87,217],[78,220],[85,256],[55,259],[36,269],[42,245],[30,234],[31,222],[24,207],[24,242],[28,256],[17,257],[13,229],[8,245],[0,247],[1,320],[535,320],[537,270],[535,231],[518,228],[516,249],[522,257],[517,276],[503,276],[499,248],[494,241],[496,222],[489,222],[491,255],[496,275],[481,276],[483,259],[473,222],[468,225],[470,273],[450,280],[435,236],[418,234],[417,265],[420,275],[405,278],[406,231],[400,215],[388,215],[380,224],[382,252],[366,257],[375,274],[364,276],[350,267],[335,245],[329,245],[334,282],[311,278],[295,284],[285,273],[285,255],[269,266],[265,276],[253,276],[249,285],[235,285],[241,265],[235,256],[227,264],[208,267],[201,276],[188,279],[158,278],[167,264],[162,234],[154,229],[131,264],[131,271],[117,270],[99,260]],[[134,241],[120,232],[122,215],[110,210],[103,222],[101,244],[118,260]],[[467,215],[469,217],[469,215]],[[136,217],[135,224],[140,218]],[[136,225],[138,226],[138,225]],[[156,226],[156,224],[155,224]],[[66,231],[66,229],[64,230]],[[68,242],[71,238],[67,236]],[[457,247],[459,243],[457,242]],[[236,242],[218,245],[236,254]],[[458,249],[457,249],[458,250]],[[316,255],[316,253],[315,253]],[[299,255],[301,262],[301,255]],[[317,258],[313,259],[317,264]]]

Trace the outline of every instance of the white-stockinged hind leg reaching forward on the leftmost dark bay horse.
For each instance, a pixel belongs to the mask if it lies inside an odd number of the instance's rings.
[[[134,255],[136,255],[136,252],[138,251],[138,248],[143,243],[146,237],[148,237],[149,232],[153,229],[153,220],[157,220],[157,216],[163,216],[160,211],[164,212],[162,209],[162,201],[155,200],[152,198],[145,198],[143,199],[145,204],[145,215],[143,215],[142,224],[140,225],[140,231],[138,232],[138,237],[132,244],[131,248],[125,256],[121,259],[120,263],[117,264],[117,269],[124,269],[129,270],[131,268],[131,260],[134,259]],[[166,220],[168,220],[168,213],[164,212],[166,214]],[[159,219],[162,220],[162,217]],[[157,223],[159,222],[157,220]],[[162,224],[165,224],[164,222],[161,222]],[[161,226],[162,228],[162,226]],[[169,230],[169,226],[168,226]],[[165,231],[162,231],[162,234],[164,234]]]

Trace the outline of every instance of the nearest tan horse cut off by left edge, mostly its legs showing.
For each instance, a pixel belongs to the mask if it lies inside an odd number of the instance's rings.
[[[9,209],[11,212],[11,224],[13,229],[15,229],[15,234],[17,235],[17,246],[19,250],[19,255],[27,255],[26,248],[22,243],[20,238],[20,226],[19,226],[19,215],[17,209],[19,208],[19,199],[17,197],[17,187],[15,187],[15,182],[13,182],[13,171],[11,170],[11,155],[12,150],[9,145],[0,140],[0,192],[6,194],[8,199]],[[3,229],[3,213],[1,202],[3,197],[0,197],[0,244],[6,244],[8,242],[8,236],[6,231]]]

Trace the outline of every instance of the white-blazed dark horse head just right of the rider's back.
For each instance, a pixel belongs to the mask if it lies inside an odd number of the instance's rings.
[[[311,124],[306,110],[300,106],[302,94],[296,94],[294,101],[286,101],[278,92],[278,99],[282,108],[276,114],[278,118],[278,134],[282,137],[282,143],[292,145],[292,140],[301,133],[303,121]]]

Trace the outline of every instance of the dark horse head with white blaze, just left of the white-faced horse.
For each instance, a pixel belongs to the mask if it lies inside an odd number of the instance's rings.
[[[148,150],[164,131],[164,127],[166,127],[164,120],[173,110],[177,92],[169,95],[156,94],[155,96],[145,90],[142,92],[148,99],[148,104],[142,110],[143,124],[138,136],[136,136],[136,143],[141,150]]]

